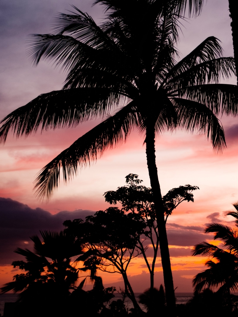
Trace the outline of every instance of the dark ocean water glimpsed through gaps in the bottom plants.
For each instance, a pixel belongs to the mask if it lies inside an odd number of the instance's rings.
[[[141,293],[135,293],[136,300],[139,301],[139,295]],[[115,298],[113,300],[121,299],[122,295],[118,293],[114,293]],[[192,297],[193,293],[175,293],[176,296],[176,303],[177,304],[186,304]],[[4,304],[6,302],[15,302],[17,300],[17,294],[2,294],[0,295],[0,314],[3,316],[3,310],[4,310]],[[132,302],[126,298],[125,300],[125,306],[129,310],[130,308],[133,308]],[[141,305],[141,308],[145,310],[144,305]]]

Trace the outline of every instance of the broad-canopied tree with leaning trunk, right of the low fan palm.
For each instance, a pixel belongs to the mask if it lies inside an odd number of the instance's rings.
[[[126,215],[118,208],[110,207],[105,211],[97,211],[94,216],[86,217],[85,222],[75,219],[67,220],[63,224],[67,227],[65,232],[83,241],[87,249],[76,259],[85,263],[85,268],[81,270],[90,270],[91,278],[95,277],[97,269],[120,273],[126,295],[132,301],[136,312],[141,312],[127,276],[130,261],[140,254],[135,250],[138,236],[144,229],[144,222],[139,215]]]

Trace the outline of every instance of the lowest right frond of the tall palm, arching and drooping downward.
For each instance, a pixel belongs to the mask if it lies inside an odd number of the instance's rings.
[[[213,148],[222,152],[226,147],[225,134],[220,121],[205,105],[182,98],[173,98],[178,111],[178,126],[193,133],[197,130],[211,140]]]

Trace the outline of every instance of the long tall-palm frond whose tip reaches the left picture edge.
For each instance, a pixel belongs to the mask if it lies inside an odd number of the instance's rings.
[[[0,123],[0,143],[10,129],[17,137],[41,130],[76,126],[105,115],[122,97],[109,88],[75,88],[42,94],[23,107],[14,110]]]

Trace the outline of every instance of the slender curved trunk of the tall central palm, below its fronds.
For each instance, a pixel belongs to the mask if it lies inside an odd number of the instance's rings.
[[[175,293],[174,283],[169,257],[169,245],[164,220],[164,207],[162,202],[162,195],[158,179],[158,172],[155,163],[155,129],[147,127],[146,129],[146,157],[149,170],[149,178],[151,189],[153,192],[153,200],[155,204],[155,213],[157,218],[161,262],[163,268],[164,287],[166,302],[168,307],[169,316],[175,316]]]

